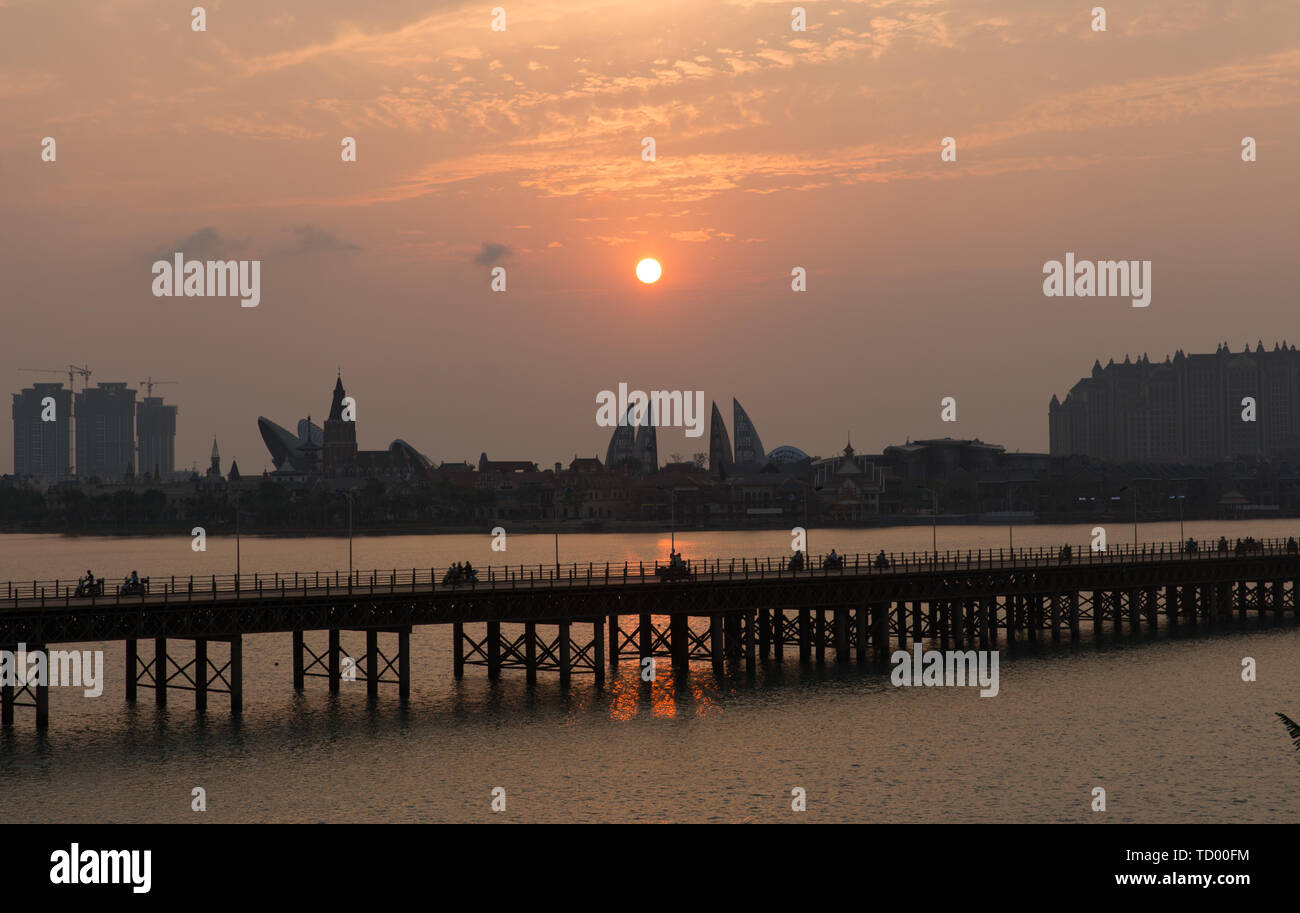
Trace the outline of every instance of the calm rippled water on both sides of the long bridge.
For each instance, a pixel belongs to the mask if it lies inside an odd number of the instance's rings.
[[[1015,528],[1015,544],[1083,544],[1087,527]],[[1200,538],[1292,535],[1296,522],[1187,524]],[[1109,529],[1112,542],[1131,527]],[[812,531],[811,548],[920,550],[928,527]],[[940,527],[940,548],[997,548],[1005,527]],[[1149,524],[1143,541],[1174,540],[1178,524]],[[690,555],[779,555],[781,532],[685,533]],[[512,536],[511,563],[554,562],[550,536]],[[653,561],[667,536],[566,535],[560,559]],[[502,563],[486,536],[356,538],[358,567]],[[246,538],[246,572],[347,564],[347,540]],[[0,580],[221,574],[233,542],[188,537],[0,536]],[[309,635],[309,639],[313,635]],[[317,650],[324,633],[315,635]],[[355,655],[363,636],[344,633]],[[381,640],[381,646],[387,641]],[[95,645],[99,646],[99,645]],[[177,654],[188,654],[174,642]],[[142,653],[148,654],[148,646]],[[213,657],[224,655],[221,646]],[[786,657],[790,650],[786,649]],[[716,678],[696,663],[681,687],[660,659],[642,684],[633,661],[598,693],[575,676],[528,687],[517,671],[495,685],[471,667],[451,676],[450,631],[412,635],[411,705],[394,685],[369,705],[364,684],[330,697],[324,679],[295,695],[287,635],[244,639],[244,713],[220,695],[199,719],[186,692],[157,709],[122,698],[122,649],[105,645],[105,693],[55,688],[51,728],[30,709],[0,731],[0,822],[12,821],[1134,821],[1300,819],[1300,763],[1273,715],[1300,718],[1300,629],[1082,645],[1004,655],[1001,692],[894,688],[888,675],[760,663]],[[1243,657],[1258,681],[1243,683]],[[190,810],[194,787],[208,810]],[[507,812],[489,809],[504,787]],[[807,813],[790,812],[792,787]],[[1109,810],[1092,813],[1091,791]]]

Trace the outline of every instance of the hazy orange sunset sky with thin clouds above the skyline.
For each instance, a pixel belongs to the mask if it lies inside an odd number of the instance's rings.
[[[1093,359],[1300,342],[1295,0],[199,3],[0,0],[0,375],[179,381],[178,466],[269,468],[338,367],[363,449],[550,464],[620,381],[768,449],[1045,450]],[[260,306],[155,298],[178,250]],[[1045,298],[1066,251],[1150,307]]]

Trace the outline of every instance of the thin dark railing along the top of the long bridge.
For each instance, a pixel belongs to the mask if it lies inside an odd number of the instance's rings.
[[[1226,548],[1222,548],[1226,545]],[[1088,545],[1027,546],[997,549],[945,549],[941,551],[887,551],[876,554],[838,555],[841,563],[828,567],[826,555],[811,557],[802,567],[790,567],[790,555],[755,558],[686,559],[686,574],[667,579],[676,583],[708,583],[719,580],[750,580],[766,577],[861,576],[919,574],[939,571],[1005,570],[1035,567],[1079,567],[1093,564],[1143,563],[1165,561],[1213,561],[1244,555],[1296,554],[1297,542],[1291,538],[1244,538],[1232,542],[1206,542],[1188,551],[1183,542],[1140,542],[1114,545],[1095,551]],[[883,558],[881,558],[883,555]],[[255,574],[212,574],[194,576],[153,576],[147,592],[121,594],[112,580],[104,581],[104,593],[77,596],[78,580],[12,580],[4,584],[8,605],[25,601],[39,605],[69,605],[73,601],[91,605],[178,602],[218,600],[231,597],[285,597],[348,593],[426,593],[472,589],[534,589],[575,585],[625,585],[656,583],[667,562],[571,562],[568,564],[502,564],[481,567],[477,579],[448,581],[450,568],[372,568],[332,571],[280,571]]]

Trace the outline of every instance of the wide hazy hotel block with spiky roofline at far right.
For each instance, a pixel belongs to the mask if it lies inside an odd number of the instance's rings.
[[[1254,401],[1254,420],[1243,417]],[[1143,355],[1075,384],[1048,407],[1052,455],[1210,463],[1300,450],[1300,354],[1274,343],[1213,355]]]

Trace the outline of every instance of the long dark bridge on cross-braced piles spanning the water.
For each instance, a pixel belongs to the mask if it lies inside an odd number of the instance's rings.
[[[786,558],[708,558],[689,575],[660,579],[656,564],[500,566],[473,583],[442,583],[439,568],[277,572],[235,577],[169,577],[150,593],[78,597],[75,581],[4,585],[0,649],[48,657],[55,644],[122,641],[126,698],[139,688],[166,702],[190,691],[207,709],[209,693],[243,706],[244,635],[291,636],[292,683],[307,678],[364,680],[368,695],[396,684],[410,697],[410,637],[415,626],[454,628],[452,667],[485,666],[497,679],[523,670],[529,680],[555,672],[563,684],[590,674],[603,687],[607,666],[624,657],[667,657],[675,672],[692,661],[722,671],[744,658],[763,662],[884,665],[893,649],[1008,649],[1158,629],[1222,629],[1291,623],[1300,615],[1295,540],[1247,540],[1228,550],[1183,550],[1178,542],[1092,551],[984,549],[848,555],[840,567],[820,558],[792,570]],[[692,620],[703,620],[703,631]],[[503,629],[502,626],[511,626]],[[521,628],[521,631],[520,631]],[[342,631],[365,633],[350,657]],[[324,644],[308,635],[324,633]],[[387,653],[381,649],[381,636]],[[142,657],[140,641],[153,641]],[[178,662],[169,640],[194,642]],[[217,645],[213,658],[209,646]],[[49,719],[48,684],[0,684],[0,724],[32,708]]]

